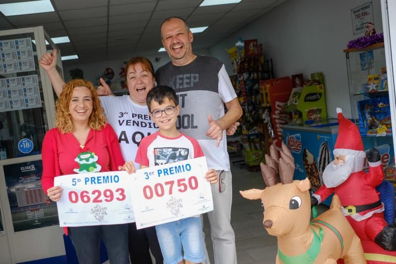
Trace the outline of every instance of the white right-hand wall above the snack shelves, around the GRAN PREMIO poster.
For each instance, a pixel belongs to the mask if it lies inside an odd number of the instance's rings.
[[[220,58],[231,73],[226,48],[238,37],[258,39],[266,58],[273,58],[275,76],[322,71],[325,76],[326,103],[329,117],[337,117],[336,107],[351,116],[347,65],[344,49],[353,35],[350,9],[369,0],[289,0],[233,33],[209,49]],[[382,32],[381,3],[373,0],[374,25]]]

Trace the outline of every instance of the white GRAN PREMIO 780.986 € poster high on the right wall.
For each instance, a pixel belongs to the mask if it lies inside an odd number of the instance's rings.
[[[350,10],[352,18],[353,35],[366,31],[366,24],[374,24],[373,3],[368,2]]]

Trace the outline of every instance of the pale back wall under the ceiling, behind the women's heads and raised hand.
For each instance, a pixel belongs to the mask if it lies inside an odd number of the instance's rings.
[[[194,51],[196,54],[209,54],[209,50],[197,50]],[[170,58],[166,52],[154,53],[154,54],[134,54],[133,56],[146,56],[152,63],[154,67],[154,71],[157,70],[160,66],[166,64],[170,61]],[[131,56],[131,57],[133,57]],[[93,82],[94,84],[99,84],[99,77],[104,72],[106,68],[112,68],[114,71],[114,78],[111,80],[111,89],[113,91],[121,90],[119,85],[119,76],[118,73],[121,71],[121,67],[124,64],[124,61],[128,61],[131,57],[126,57],[124,59],[115,59],[115,60],[106,60],[99,61],[95,63],[84,63],[84,64],[72,64],[72,65],[64,65],[63,72],[66,82],[70,79],[69,70],[73,68],[80,68],[84,72],[84,78]],[[155,58],[160,58],[160,61],[155,62]]]

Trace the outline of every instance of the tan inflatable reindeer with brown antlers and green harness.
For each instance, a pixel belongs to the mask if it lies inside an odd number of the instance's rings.
[[[278,237],[277,264],[365,264],[360,239],[341,211],[340,200],[333,197],[330,210],[310,219],[310,183],[293,180],[294,158],[285,144],[281,158],[273,146],[271,157],[265,156],[261,172],[264,190],[241,191],[250,200],[261,199],[263,225],[270,235]],[[282,183],[277,183],[277,174]]]

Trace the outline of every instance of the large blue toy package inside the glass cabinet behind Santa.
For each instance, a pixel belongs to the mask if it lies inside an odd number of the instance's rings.
[[[386,136],[392,134],[389,97],[370,98],[357,101],[359,131],[364,136]]]

